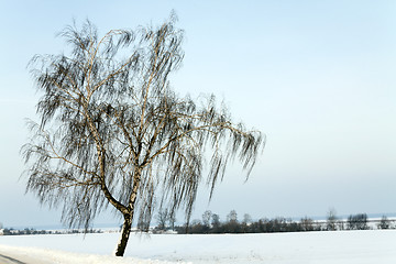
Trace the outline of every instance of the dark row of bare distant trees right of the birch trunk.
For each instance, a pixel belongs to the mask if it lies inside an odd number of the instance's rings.
[[[211,211],[205,211],[201,220],[193,220],[191,223],[175,227],[175,218],[167,218],[167,212],[157,215],[158,226],[153,230],[154,233],[162,233],[173,230],[177,233],[275,233],[275,232],[308,232],[308,231],[334,231],[334,230],[367,230],[369,226],[366,213],[351,215],[346,220],[337,217],[336,210],[328,213],[324,221],[315,221],[305,217],[299,221],[290,218],[277,217],[274,219],[263,218],[253,221],[249,213],[243,216],[240,221],[235,210],[231,210],[226,221],[220,221],[220,217]],[[376,221],[377,229],[394,229],[393,221],[385,216]]]

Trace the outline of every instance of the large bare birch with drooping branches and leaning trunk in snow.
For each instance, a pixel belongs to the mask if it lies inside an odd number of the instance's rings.
[[[123,219],[118,256],[133,221],[147,227],[164,209],[189,219],[199,184],[212,194],[232,160],[249,176],[264,145],[262,133],[233,123],[215,96],[193,100],[172,89],[169,74],[184,57],[175,23],[172,14],[160,26],[99,36],[87,21],[59,34],[68,53],[30,63],[42,97],[22,147],[26,191],[63,208],[70,228],[88,229],[111,208]]]

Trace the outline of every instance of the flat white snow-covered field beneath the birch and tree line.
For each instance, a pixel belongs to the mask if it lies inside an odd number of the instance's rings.
[[[119,233],[0,237],[0,255],[37,263],[324,264],[396,263],[396,230],[272,234],[134,234],[125,257],[111,256]],[[16,258],[16,257],[15,257]]]

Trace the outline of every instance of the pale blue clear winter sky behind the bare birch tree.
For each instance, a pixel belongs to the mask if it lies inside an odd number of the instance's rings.
[[[34,54],[57,54],[73,19],[110,29],[157,24],[174,9],[186,31],[180,94],[215,92],[235,121],[267,135],[251,178],[238,166],[206,209],[261,217],[396,212],[395,1],[0,1],[0,222],[57,223],[24,196],[19,150],[37,95]],[[110,221],[103,217],[98,222]]]

